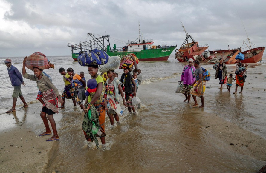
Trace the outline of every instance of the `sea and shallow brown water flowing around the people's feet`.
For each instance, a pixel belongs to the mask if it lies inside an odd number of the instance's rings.
[[[84,71],[85,78],[87,80],[90,78],[87,68],[73,61],[71,56],[48,58],[55,64],[55,69],[48,69],[45,72],[51,76],[59,92],[64,88],[62,75],[58,72],[60,67],[65,69],[71,67],[75,73]],[[4,59],[0,58],[0,61]],[[12,64],[22,71],[23,57],[11,57],[11,59]],[[265,56],[262,62],[265,64]],[[232,95],[210,88],[215,94],[206,92],[205,107],[199,113],[183,103],[182,95],[174,93],[185,65],[186,63],[175,60],[174,55],[163,62],[140,61],[138,66],[142,70],[143,82],[137,96],[141,98],[142,107],[137,109],[136,116],[128,115],[125,110],[125,115],[120,117],[121,124],[116,124],[115,128],[111,128],[109,118],[106,116],[107,150],[104,152],[95,147],[89,149],[84,144],[85,138],[81,130],[83,114],[73,109],[71,101],[66,101],[65,109],[60,110],[62,118],[56,119],[60,141],[53,143],[46,171],[256,172],[259,167],[265,165],[262,160],[228,150],[224,143],[213,140],[208,131],[201,128],[197,115],[204,112],[213,113],[266,138],[264,116],[266,109],[263,107],[265,103],[261,103],[260,98],[252,95]],[[257,65],[261,64],[253,66]],[[212,64],[202,66],[210,71],[213,67]],[[235,69],[234,65],[227,67],[230,71]],[[4,63],[2,69],[6,69]],[[27,72],[33,74],[31,70],[27,69]],[[123,73],[121,69],[116,72],[119,76]],[[3,70],[0,77],[3,80],[0,110],[4,111],[12,105],[13,87],[6,70]],[[25,79],[25,84],[26,86],[22,86],[25,100],[29,103],[37,102],[36,83]],[[233,88],[231,93],[232,90]],[[265,98],[265,95],[261,97]],[[236,102],[239,103],[239,107],[235,106]],[[17,105],[19,104],[22,102],[18,99]],[[224,111],[225,109],[230,112]],[[26,119],[30,119],[29,116]],[[42,132],[42,129],[38,129],[37,133],[39,132]]]

